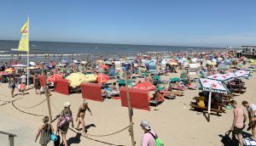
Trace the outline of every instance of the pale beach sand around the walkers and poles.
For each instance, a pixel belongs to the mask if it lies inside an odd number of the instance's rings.
[[[170,77],[178,76],[179,74],[170,74],[164,76],[168,79]],[[255,76],[255,73],[254,75]],[[236,96],[235,99],[238,104],[242,100],[247,100],[256,104],[256,78],[244,80],[246,82],[247,92]],[[10,97],[10,89],[8,84],[0,84],[0,99],[11,100],[22,97],[21,95],[15,98]],[[17,91],[15,91],[17,93]],[[26,107],[35,105],[44,100],[44,95],[36,95],[34,90],[29,90],[24,98],[15,101],[15,106],[26,112],[37,115],[48,115],[47,102],[39,104],[37,107],[27,109]],[[183,97],[168,100],[165,99],[163,104],[157,107],[152,107],[151,111],[134,110],[134,135],[137,145],[140,145],[140,138],[143,135],[140,121],[146,119],[150,121],[151,127],[157,132],[166,146],[168,145],[197,145],[197,146],[219,146],[221,138],[219,135],[224,135],[230,130],[233,120],[232,110],[226,110],[226,113],[221,116],[211,115],[211,121],[207,122],[206,117],[201,113],[190,110],[190,102],[193,97],[197,96],[198,90],[186,90]],[[79,104],[82,103],[82,95],[74,93],[69,96],[60,93],[52,92],[50,96],[52,115],[58,115],[63,109],[63,103],[71,102],[71,110],[73,110],[73,117],[77,114]],[[117,132],[129,125],[127,108],[121,107],[120,100],[106,99],[104,102],[89,101],[90,110],[93,116],[90,116],[88,111],[85,115],[85,124],[90,126],[89,134],[104,135],[112,132]],[[0,102],[3,104],[4,102]],[[0,129],[4,132],[13,132],[18,137],[15,138],[15,145],[19,146],[34,146],[39,145],[35,143],[34,139],[38,131],[38,127],[42,125],[42,116],[28,115],[16,110],[12,104],[5,104],[0,106]],[[77,122],[74,122],[76,126]],[[56,121],[53,122],[54,128]],[[248,132],[251,133],[251,132]],[[128,130],[119,132],[108,137],[81,137],[71,130],[67,132],[68,143],[71,145],[88,145],[88,146],[105,146],[105,145],[131,145],[131,137]],[[0,145],[5,146],[8,143],[8,136],[1,135]],[[2,143],[3,142],[3,143]],[[53,145],[52,142],[49,145]]]

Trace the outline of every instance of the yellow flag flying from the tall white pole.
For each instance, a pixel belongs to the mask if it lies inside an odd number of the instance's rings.
[[[28,36],[28,29],[29,28],[29,18],[27,18],[26,23],[21,27],[20,33],[21,33],[21,38],[20,38],[20,43],[19,43],[19,48],[18,51],[29,51],[29,36]]]

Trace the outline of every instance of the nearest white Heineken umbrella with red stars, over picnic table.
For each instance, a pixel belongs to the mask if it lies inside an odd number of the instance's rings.
[[[212,93],[230,94],[230,91],[225,87],[223,81],[211,80],[206,78],[199,79],[199,90],[209,91],[212,86]]]

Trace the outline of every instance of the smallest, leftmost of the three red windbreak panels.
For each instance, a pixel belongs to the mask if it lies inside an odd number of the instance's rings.
[[[69,86],[68,86],[68,80],[66,79],[60,79],[58,81],[55,81],[55,93],[61,93],[64,95],[69,94]]]

